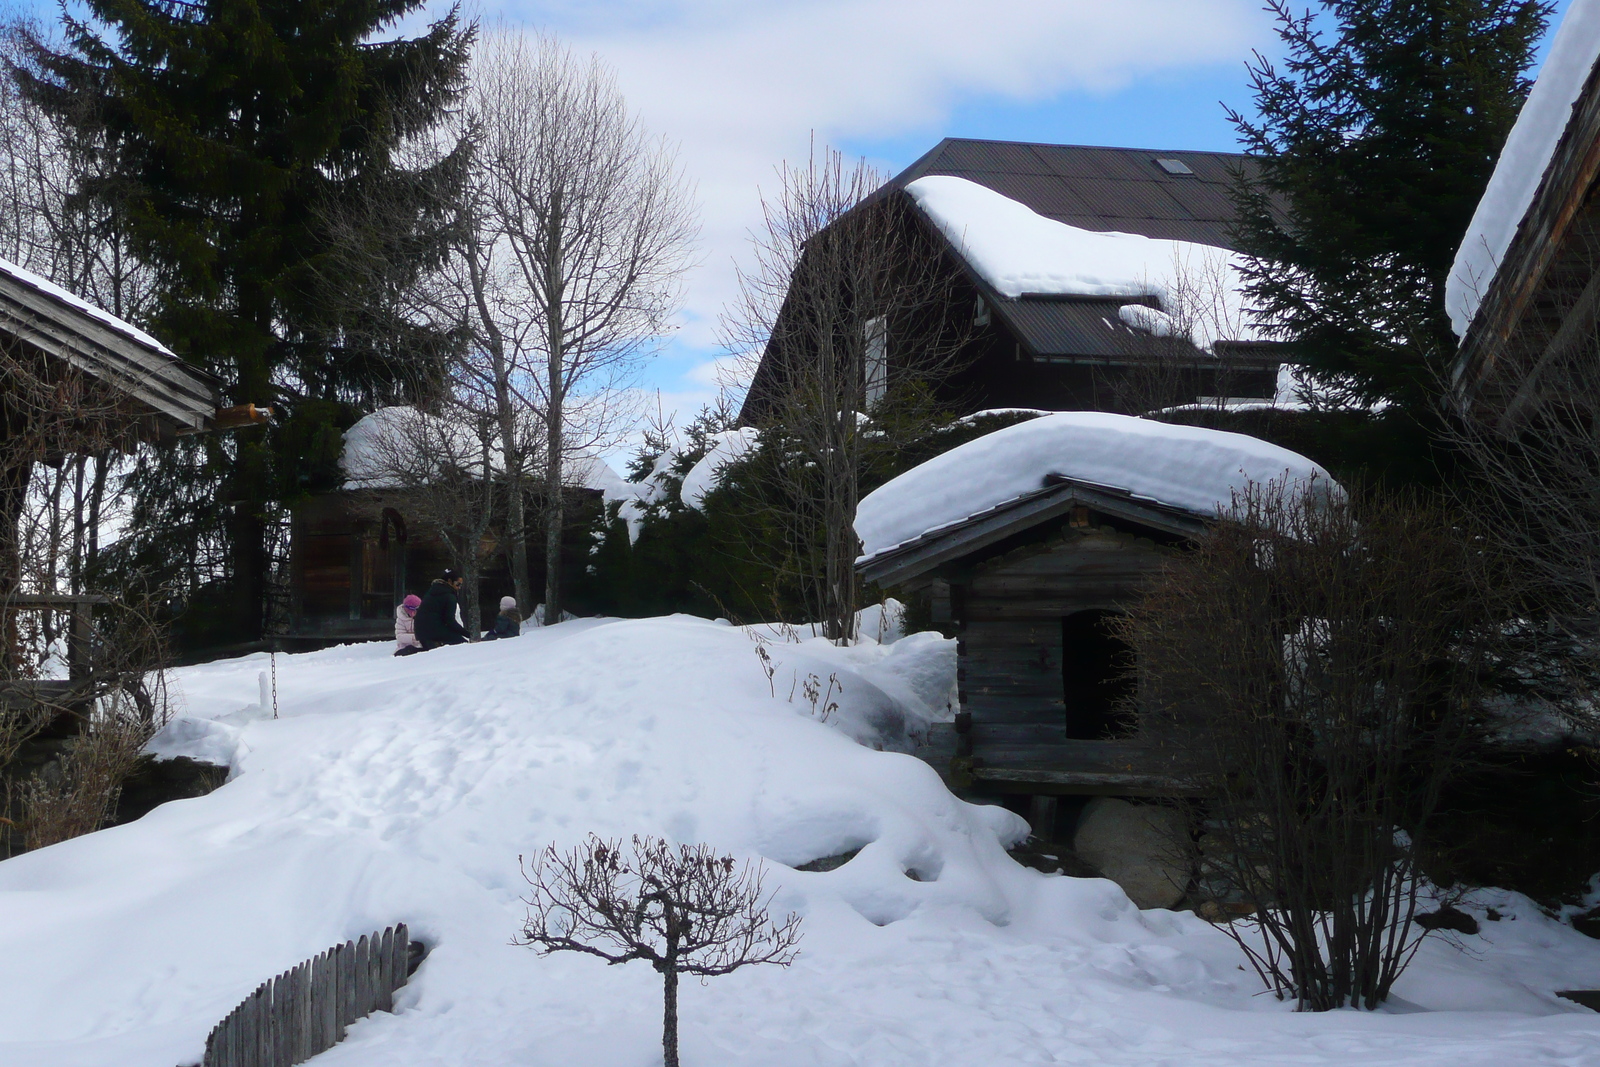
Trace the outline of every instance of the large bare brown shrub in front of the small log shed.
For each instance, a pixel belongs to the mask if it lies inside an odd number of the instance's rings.
[[[1205,803],[1202,889],[1301,1009],[1376,1008],[1426,931],[1418,854],[1482,733],[1490,555],[1442,507],[1256,488],[1120,627],[1141,733]]]

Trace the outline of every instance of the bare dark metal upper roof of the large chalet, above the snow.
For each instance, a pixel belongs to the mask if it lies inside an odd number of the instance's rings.
[[[1168,174],[1157,160],[1194,174]],[[1256,162],[1237,152],[1098,149],[947,138],[890,182],[950,174],[987,186],[1043,216],[1086,230],[1118,230],[1235,248],[1229,190]]]

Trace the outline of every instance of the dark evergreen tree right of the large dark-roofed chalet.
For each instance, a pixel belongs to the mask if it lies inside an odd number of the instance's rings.
[[[1269,0],[1282,67],[1229,112],[1253,306],[1333,395],[1427,410],[1456,341],[1445,277],[1530,82],[1544,0]]]

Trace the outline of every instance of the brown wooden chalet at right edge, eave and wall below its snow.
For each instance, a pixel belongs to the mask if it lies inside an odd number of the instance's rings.
[[[1502,158],[1506,163],[1515,160]],[[1592,344],[1597,330],[1600,62],[1589,69],[1538,189],[1462,336],[1453,370],[1459,406],[1515,430],[1531,408],[1550,398],[1544,371],[1574,355],[1578,346]]]

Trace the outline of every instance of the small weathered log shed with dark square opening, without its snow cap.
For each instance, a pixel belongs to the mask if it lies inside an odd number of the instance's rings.
[[[866,560],[862,577],[930,597],[957,633],[962,709],[922,755],[952,784],[1003,793],[1182,792],[1170,757],[1120,717],[1133,664],[1106,622],[1203,528],[1178,507],[1053,478]]]

